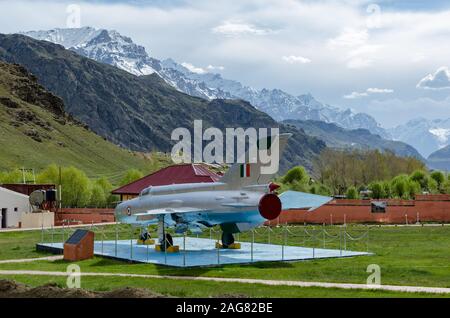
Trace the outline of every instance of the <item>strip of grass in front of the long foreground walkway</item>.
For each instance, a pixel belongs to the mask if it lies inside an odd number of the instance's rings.
[[[0,279],[13,279],[29,286],[42,286],[56,283],[66,286],[66,278],[50,276],[2,276]],[[153,292],[173,297],[251,297],[251,298],[362,298],[362,297],[449,297],[426,293],[400,293],[376,290],[345,290],[339,288],[266,286],[260,284],[199,282],[192,280],[167,280],[128,277],[82,277],[81,288],[93,291],[110,291],[122,287],[146,288]]]

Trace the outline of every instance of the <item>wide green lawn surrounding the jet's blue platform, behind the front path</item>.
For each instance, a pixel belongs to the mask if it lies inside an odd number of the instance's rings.
[[[105,239],[112,239],[114,236],[114,227],[107,227],[103,230]],[[286,235],[287,244],[303,245],[303,241],[307,239],[304,235],[304,227],[290,227],[290,234]],[[340,228],[327,227],[327,233],[330,235],[339,235]],[[105,231],[108,231],[106,233]],[[268,241],[268,233],[265,230],[258,230],[255,234],[255,241]],[[284,230],[274,229],[271,233],[272,243],[281,243],[284,240]],[[321,229],[316,227],[308,227],[310,234],[316,234],[320,237]],[[351,226],[348,232],[353,237],[360,236],[367,231],[365,226]],[[101,232],[100,232],[101,233]],[[129,237],[130,231],[122,227],[121,238]],[[69,233],[65,233],[67,237]],[[58,234],[59,235],[59,234]],[[216,235],[216,234],[214,234]],[[205,236],[209,234],[205,233]],[[100,237],[97,231],[97,238]],[[240,240],[249,240],[250,233],[240,236]],[[40,241],[40,231],[34,232],[14,232],[0,233],[0,259],[11,258],[29,258],[40,257],[45,254],[35,252],[34,244]],[[46,233],[46,241],[49,239],[49,233]],[[57,236],[54,237],[57,241]],[[62,237],[59,239],[61,241]],[[342,242],[342,241],[341,241]],[[226,265],[222,267],[210,268],[194,268],[194,269],[176,269],[157,266],[152,264],[128,264],[124,262],[94,258],[78,262],[81,270],[84,272],[124,272],[124,273],[140,273],[140,274],[164,274],[164,275],[186,275],[186,276],[209,276],[209,277],[241,277],[241,278],[259,278],[259,279],[279,279],[279,280],[299,280],[299,281],[322,281],[322,282],[339,282],[339,283],[358,283],[366,282],[368,273],[367,266],[370,264],[378,264],[381,267],[382,284],[391,285],[410,285],[410,286],[430,286],[430,287],[450,287],[450,227],[371,227],[369,232],[369,250],[375,253],[373,256],[362,256],[344,259],[324,259],[311,260],[302,262],[278,262],[278,263],[254,263],[249,265]],[[341,243],[342,246],[343,243]],[[349,250],[365,251],[367,241],[361,240],[357,242],[347,241]],[[314,241],[306,241],[304,245],[323,247],[323,241],[319,239]],[[327,248],[339,248],[339,240],[328,242]],[[39,261],[26,264],[0,264],[0,269],[28,269],[28,270],[50,270],[65,271],[67,263],[64,261]],[[36,278],[39,282],[45,282],[49,278]],[[109,279],[90,278],[87,287],[100,288],[102,284],[112,286],[113,283]],[[116,278],[113,279],[116,281]],[[125,283],[128,279],[125,280]],[[102,282],[106,281],[106,282]],[[149,282],[151,280],[148,280]],[[205,284],[204,282],[187,282],[186,284]],[[89,285],[90,284],[90,285]],[[114,283],[115,284],[115,283]],[[166,282],[156,281],[162,285]],[[169,282],[180,286],[181,283]],[[212,286],[215,285],[211,283]],[[216,283],[217,285],[217,283]],[[222,283],[220,284],[222,285]],[[228,284],[227,284],[228,285]],[[234,285],[231,284],[230,285]],[[241,285],[241,284],[238,284]],[[154,286],[154,285],[152,285]],[[181,288],[181,287],[180,287]],[[231,287],[230,287],[231,288]],[[234,288],[234,287],[233,287]],[[242,286],[240,288],[250,288],[250,286]],[[268,287],[271,289],[270,287]],[[258,288],[259,289],[259,288]],[[278,287],[277,287],[278,289]],[[299,289],[295,288],[294,289]],[[261,287],[261,291],[264,288]],[[283,288],[289,293],[290,288]],[[310,290],[313,293],[313,289]],[[329,290],[323,292],[318,288],[314,293],[328,293]],[[157,291],[157,290],[155,290]],[[305,291],[309,294],[309,291]],[[313,294],[314,294],[313,293]],[[354,293],[354,291],[339,291],[336,296],[346,293]],[[360,293],[366,293],[357,291]],[[374,292],[368,292],[370,293]],[[378,293],[378,292],[376,292]],[[287,294],[286,294],[287,295]],[[378,295],[378,294],[377,294]],[[261,296],[263,296],[261,294]]]

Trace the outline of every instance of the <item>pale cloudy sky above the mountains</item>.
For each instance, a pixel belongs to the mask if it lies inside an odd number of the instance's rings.
[[[0,32],[66,27],[70,4],[81,26],[115,29],[156,58],[310,92],[384,127],[450,117],[449,1],[0,0]]]

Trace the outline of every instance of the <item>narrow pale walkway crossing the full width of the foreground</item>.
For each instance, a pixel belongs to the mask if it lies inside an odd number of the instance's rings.
[[[0,275],[67,276],[67,273],[48,272],[48,271],[28,271],[28,270],[0,270]],[[394,286],[394,285],[370,286],[365,284],[300,282],[300,281],[263,280],[263,279],[248,279],[248,278],[160,276],[160,275],[145,275],[145,274],[121,274],[121,273],[82,272],[80,275],[94,276],[94,277],[133,277],[133,278],[209,281],[221,283],[262,284],[270,286],[322,287],[322,288],[341,288],[341,289],[383,290],[383,291],[408,292],[408,293],[420,292],[432,294],[450,294],[450,288],[440,288],[440,287],[416,287],[416,286]]]

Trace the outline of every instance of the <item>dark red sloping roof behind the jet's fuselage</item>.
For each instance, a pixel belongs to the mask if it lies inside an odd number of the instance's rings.
[[[113,194],[138,195],[149,186],[162,186],[182,183],[216,182],[220,176],[210,171],[203,164],[182,164],[170,166],[152,173],[142,179],[124,185],[114,191]]]

